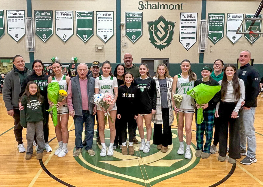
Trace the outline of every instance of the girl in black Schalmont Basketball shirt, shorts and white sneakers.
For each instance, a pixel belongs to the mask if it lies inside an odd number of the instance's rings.
[[[139,89],[138,94],[138,117],[137,125],[141,137],[141,146],[139,150],[144,153],[150,152],[151,139],[151,117],[156,112],[156,84],[155,80],[149,74],[149,68],[146,63],[139,66],[139,73],[141,77],[135,80],[135,85]],[[147,142],[144,140],[143,118],[145,121]]]

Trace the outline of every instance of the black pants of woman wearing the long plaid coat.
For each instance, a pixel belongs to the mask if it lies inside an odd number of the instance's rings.
[[[154,123],[153,144],[163,145],[164,147],[167,147],[168,145],[172,145],[172,129],[169,124],[168,108],[162,108],[162,117],[163,117],[164,133],[162,132],[162,125]]]

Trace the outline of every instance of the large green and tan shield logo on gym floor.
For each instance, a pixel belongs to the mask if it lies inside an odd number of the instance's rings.
[[[146,132],[146,129],[144,129]],[[137,131],[137,134],[139,132]],[[83,136],[84,137],[84,133]],[[110,131],[105,129],[106,145],[109,145]],[[140,137],[136,136],[140,142]],[[184,141],[185,138],[184,138]],[[82,152],[79,157],[74,157],[76,161],[93,172],[130,181],[142,186],[152,186],[163,180],[169,179],[176,175],[185,173],[194,168],[200,161],[200,158],[194,156],[195,146],[192,144],[192,159],[185,159],[184,155],[178,155],[179,140],[177,130],[172,129],[173,145],[168,146],[168,152],[162,153],[157,150],[157,145],[152,145],[149,153],[139,151],[140,144],[134,144],[134,155],[122,155],[120,149],[114,151],[113,156],[99,156],[101,145],[96,145],[96,136],[93,139],[92,149],[96,156],[89,156],[88,153]]]

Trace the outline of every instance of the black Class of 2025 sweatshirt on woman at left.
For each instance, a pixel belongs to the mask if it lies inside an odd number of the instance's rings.
[[[49,109],[49,104],[47,102],[47,79],[48,77],[50,77],[49,75],[45,75],[42,74],[40,76],[38,76],[37,74],[32,74],[26,77],[26,79],[24,80],[22,87],[21,87],[21,93],[20,95],[23,95],[23,93],[25,92],[26,89],[26,85],[29,81],[34,81],[38,84],[39,90],[40,90],[40,94],[44,97],[45,100],[45,108],[46,110]]]

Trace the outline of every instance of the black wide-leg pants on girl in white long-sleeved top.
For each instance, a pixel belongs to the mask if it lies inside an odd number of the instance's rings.
[[[219,155],[226,156],[228,143],[228,124],[229,124],[229,153],[228,156],[233,159],[240,159],[240,139],[239,124],[237,120],[231,118],[231,114],[236,107],[237,102],[220,102],[219,106]]]

